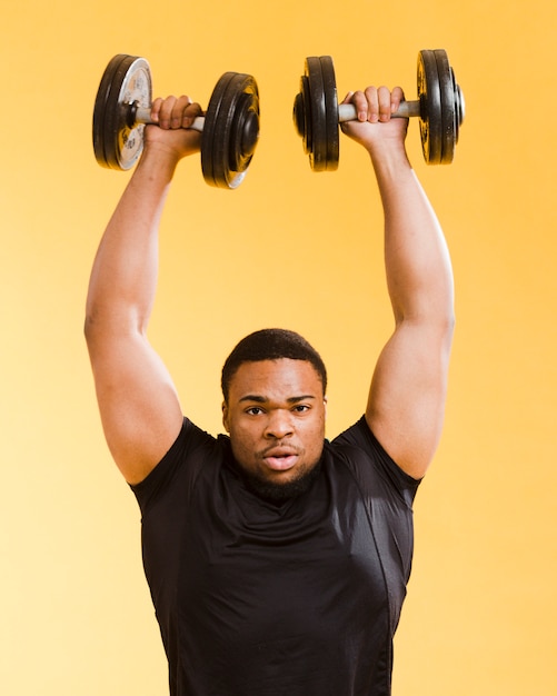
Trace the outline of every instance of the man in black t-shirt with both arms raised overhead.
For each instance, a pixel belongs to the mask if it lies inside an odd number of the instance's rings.
[[[385,211],[395,331],[365,416],[324,440],[327,375],[301,337],[265,329],[222,370],[213,438],[185,418],[146,338],[158,226],[200,108],[156,100],[141,160],[92,269],[86,336],[105,434],[142,513],[143,561],[172,696],[386,696],[412,553],[411,504],[436,450],[452,279],[391,119],[399,88],[350,93]]]

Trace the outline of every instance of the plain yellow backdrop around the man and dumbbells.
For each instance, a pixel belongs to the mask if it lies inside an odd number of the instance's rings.
[[[142,575],[139,511],[108,455],[82,339],[93,253],[129,173],[91,146],[119,52],[156,93],[207,105],[256,76],[261,139],[237,191],[185,162],[162,221],[151,339],[185,410],[220,427],[219,370],[262,326],[306,335],[330,371],[328,434],[357,418],[390,328],[367,156],[341,139],[314,173],[291,123],[304,59],[339,93],[401,83],[445,48],[467,103],[455,162],[408,149],[451,249],[457,332],[447,422],[416,504],[395,696],[545,696],[556,674],[557,10],[400,0],[4,3],[0,23],[0,692],[152,696],[166,662]]]

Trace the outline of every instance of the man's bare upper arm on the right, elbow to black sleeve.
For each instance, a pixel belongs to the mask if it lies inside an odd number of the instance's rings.
[[[445,417],[451,326],[402,321],[385,346],[369,391],[366,419],[392,459],[421,478]]]

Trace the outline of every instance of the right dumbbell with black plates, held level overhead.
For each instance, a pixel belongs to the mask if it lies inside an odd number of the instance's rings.
[[[421,149],[428,165],[452,161],[465,117],[465,101],[442,49],[418,53],[418,99],[402,101],[394,117],[419,117]],[[339,123],[357,119],[356,107],[339,105],[330,56],[306,58],[294,122],[314,171],[334,171],[339,159]]]

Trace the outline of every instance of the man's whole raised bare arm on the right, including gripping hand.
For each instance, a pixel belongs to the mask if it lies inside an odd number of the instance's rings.
[[[360,121],[342,129],[371,157],[385,212],[385,262],[395,316],[395,331],[371,380],[366,418],[395,461],[420,478],[444,422],[454,289],[441,228],[405,151],[407,121],[390,119],[401,98],[399,88],[349,95]]]

